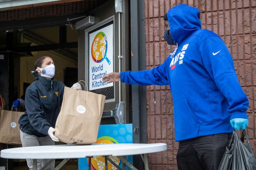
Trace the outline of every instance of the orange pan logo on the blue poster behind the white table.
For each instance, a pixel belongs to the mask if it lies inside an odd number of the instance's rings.
[[[117,140],[115,140],[112,137],[109,136],[102,136],[97,139],[95,144],[118,144]],[[120,163],[120,159],[116,156],[109,156],[109,158],[115,162],[117,165]],[[89,159],[87,158],[87,161],[89,163]],[[91,169],[92,170],[106,170],[105,166],[105,158],[103,156],[94,156],[91,159]],[[112,165],[110,162],[108,162],[108,169],[110,170],[116,170],[117,168]]]

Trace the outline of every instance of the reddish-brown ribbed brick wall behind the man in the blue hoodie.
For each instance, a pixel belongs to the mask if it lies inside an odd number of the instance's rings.
[[[255,0],[145,0],[146,68],[162,64],[174,46],[163,38],[164,14],[173,6],[197,7],[203,29],[220,35],[234,59],[238,80],[249,99],[247,132],[255,152],[256,120],[256,1]],[[169,86],[147,87],[148,143],[166,143],[168,150],[149,155],[154,169],[178,169],[174,141],[173,102]],[[255,154],[255,153],[254,153]]]

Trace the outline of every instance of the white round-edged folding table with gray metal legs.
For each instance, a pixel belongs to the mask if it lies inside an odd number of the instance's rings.
[[[1,150],[1,157],[7,159],[33,159],[33,170],[37,170],[37,159],[51,159],[41,170],[50,165],[54,159],[64,159],[55,170],[60,169],[71,158],[89,157],[89,170],[91,169],[91,157],[104,156],[105,168],[108,170],[107,161],[112,163],[117,169],[124,170],[129,166],[133,170],[138,170],[124,156],[141,155],[148,168],[148,154],[167,150],[167,145],[157,144],[92,144],[92,145],[51,145],[32,146],[22,148],[11,148]],[[115,164],[109,156],[117,156],[122,161],[122,168]]]

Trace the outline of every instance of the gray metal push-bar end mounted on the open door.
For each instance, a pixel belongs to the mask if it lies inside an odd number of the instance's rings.
[[[116,124],[124,124],[124,102],[117,102],[114,110],[103,111],[102,118],[115,118]]]

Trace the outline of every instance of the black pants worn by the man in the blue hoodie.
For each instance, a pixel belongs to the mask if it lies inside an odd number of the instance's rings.
[[[232,133],[200,136],[179,142],[179,170],[217,170]]]

